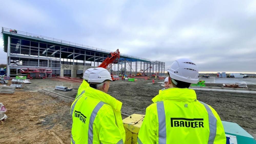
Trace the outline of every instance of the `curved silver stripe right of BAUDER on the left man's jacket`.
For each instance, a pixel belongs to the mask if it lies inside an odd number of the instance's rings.
[[[96,107],[93,109],[93,112],[91,113],[90,116],[90,121],[89,121],[89,129],[88,129],[88,144],[93,143],[93,122],[94,119],[99,111],[99,109],[104,105],[104,102],[100,101]]]

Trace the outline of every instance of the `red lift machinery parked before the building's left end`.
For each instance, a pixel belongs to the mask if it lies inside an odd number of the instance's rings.
[[[52,73],[51,68],[21,68],[21,73],[27,74],[28,79],[47,78],[48,74]]]

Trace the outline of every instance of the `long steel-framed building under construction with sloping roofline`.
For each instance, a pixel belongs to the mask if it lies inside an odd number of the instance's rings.
[[[81,77],[86,69],[99,66],[111,52],[4,27],[2,35],[7,53],[6,74],[10,77],[25,76],[27,71],[40,71],[44,78]],[[163,76],[165,63],[120,54],[108,68],[116,75]]]

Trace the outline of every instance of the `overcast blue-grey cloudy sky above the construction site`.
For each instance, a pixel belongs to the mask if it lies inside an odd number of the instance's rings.
[[[256,1],[2,1],[0,26],[201,72],[256,73]],[[6,63],[0,40],[0,63]]]

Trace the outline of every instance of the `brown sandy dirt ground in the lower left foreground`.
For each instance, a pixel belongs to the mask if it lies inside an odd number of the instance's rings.
[[[72,119],[68,103],[39,92],[17,90],[0,95],[8,118],[0,125],[1,143],[70,143]]]

